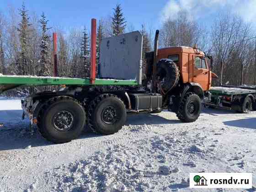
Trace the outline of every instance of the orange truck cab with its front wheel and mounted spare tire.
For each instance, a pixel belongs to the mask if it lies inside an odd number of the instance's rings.
[[[146,59],[144,85],[155,82],[156,92],[163,96],[163,108],[176,112],[181,121],[197,120],[201,101],[211,100],[211,81],[217,77],[211,72],[212,56],[198,48],[178,46],[146,53]]]

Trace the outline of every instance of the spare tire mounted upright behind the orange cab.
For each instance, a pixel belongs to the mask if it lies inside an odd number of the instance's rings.
[[[176,87],[180,78],[180,70],[171,59],[161,59],[157,63],[156,79],[160,81],[161,88],[169,91]]]

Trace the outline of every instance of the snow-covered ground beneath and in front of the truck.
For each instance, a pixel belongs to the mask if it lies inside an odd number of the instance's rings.
[[[190,172],[252,172],[256,182],[256,112],[203,109],[194,123],[133,115],[114,135],[67,144],[31,135],[21,114],[19,100],[0,99],[0,192],[198,191]]]

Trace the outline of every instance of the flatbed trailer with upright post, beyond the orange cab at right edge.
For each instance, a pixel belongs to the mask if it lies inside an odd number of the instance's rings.
[[[256,86],[223,85],[223,62],[221,63],[219,87],[210,89],[211,100],[205,102],[206,107],[235,110],[247,113],[256,110]]]

